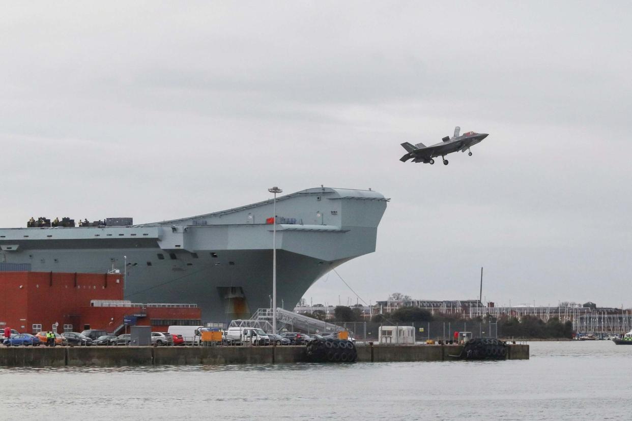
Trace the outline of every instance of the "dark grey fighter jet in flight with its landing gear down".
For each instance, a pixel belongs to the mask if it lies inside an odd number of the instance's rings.
[[[468,155],[471,157],[470,146],[476,145],[489,136],[485,133],[476,133],[473,131],[468,131],[468,133],[463,133],[459,136],[460,131],[461,127],[454,127],[454,136],[452,138],[446,136],[441,139],[442,143],[437,143],[437,145],[426,146],[423,145],[423,143],[417,143],[416,145],[412,145],[408,142],[402,143],[401,146],[403,146],[408,153],[399,158],[399,160],[406,162],[412,159],[411,162],[423,162],[432,165],[434,163],[434,159],[432,158],[441,157],[443,158],[444,165],[447,165],[446,155],[448,153],[468,151]]]

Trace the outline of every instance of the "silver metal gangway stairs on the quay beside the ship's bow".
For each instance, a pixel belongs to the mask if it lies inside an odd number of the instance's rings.
[[[313,317],[304,316],[293,311],[277,308],[277,330],[283,328],[288,331],[302,331],[309,333],[330,333],[346,330],[337,324],[327,323]],[[266,332],[272,332],[272,309],[258,309],[250,319],[240,319],[231,321],[230,326],[250,326],[253,328],[261,328]]]

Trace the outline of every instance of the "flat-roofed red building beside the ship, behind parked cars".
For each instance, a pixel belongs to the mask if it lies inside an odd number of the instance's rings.
[[[24,333],[104,329],[120,333],[125,316],[138,326],[166,331],[200,324],[195,304],[132,304],[123,300],[120,273],[0,272],[0,327]]]

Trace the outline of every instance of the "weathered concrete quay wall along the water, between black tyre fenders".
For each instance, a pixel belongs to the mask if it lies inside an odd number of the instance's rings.
[[[451,361],[462,345],[359,345],[357,362]],[[529,345],[507,345],[508,360],[528,360]],[[116,367],[126,365],[293,364],[308,362],[305,347],[8,347],[0,367]],[[333,363],[332,363],[333,364]]]

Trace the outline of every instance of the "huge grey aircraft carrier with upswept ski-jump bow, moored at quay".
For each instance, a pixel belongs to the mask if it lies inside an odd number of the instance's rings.
[[[278,197],[277,304],[293,308],[325,273],[374,252],[387,201],[376,191],[329,187]],[[270,199],[141,225],[112,218],[96,226],[0,228],[0,265],[119,270],[131,302],[197,303],[204,322],[226,323],[270,307],[272,209]]]

